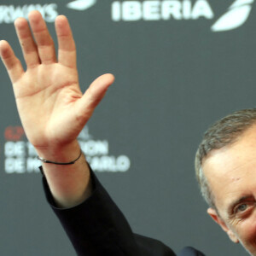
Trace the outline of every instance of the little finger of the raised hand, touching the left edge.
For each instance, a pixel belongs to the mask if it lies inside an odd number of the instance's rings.
[[[15,56],[13,49],[10,47],[8,42],[4,40],[0,42],[0,55],[3,64],[9,73],[9,78],[14,84],[18,79],[20,79],[24,70],[19,59]]]

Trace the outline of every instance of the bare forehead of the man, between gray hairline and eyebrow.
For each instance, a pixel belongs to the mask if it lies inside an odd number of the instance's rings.
[[[243,196],[256,196],[256,125],[236,143],[212,150],[202,168],[219,210]]]

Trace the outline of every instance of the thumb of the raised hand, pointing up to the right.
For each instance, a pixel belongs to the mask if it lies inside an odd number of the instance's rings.
[[[82,96],[81,100],[79,101],[79,106],[77,108],[77,114],[79,119],[82,120],[82,125],[85,125],[88,119],[90,119],[94,109],[99,102],[102,101],[108,87],[113,84],[113,81],[113,74],[104,74],[92,82],[88,90],[85,91],[84,96]]]

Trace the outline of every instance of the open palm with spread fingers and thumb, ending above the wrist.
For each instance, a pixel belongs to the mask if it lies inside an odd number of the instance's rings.
[[[65,16],[55,20],[58,58],[47,26],[38,11],[29,22],[15,20],[15,29],[26,61],[26,72],[6,41],[0,53],[13,83],[15,99],[26,136],[36,148],[71,143],[102,100],[113,75],[96,79],[84,94],[79,89],[76,49]],[[34,39],[32,38],[32,35]]]

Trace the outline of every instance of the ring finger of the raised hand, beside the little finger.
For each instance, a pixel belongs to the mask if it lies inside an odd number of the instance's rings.
[[[15,20],[15,29],[26,61],[26,67],[35,67],[40,64],[38,48],[32,38],[32,33],[26,19],[18,18]]]

